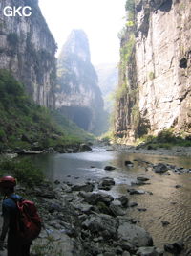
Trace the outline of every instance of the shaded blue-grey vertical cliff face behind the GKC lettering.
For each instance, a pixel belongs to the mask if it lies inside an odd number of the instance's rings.
[[[6,6],[31,6],[30,17],[7,17]],[[39,105],[54,106],[56,45],[43,18],[37,0],[0,2],[0,69],[26,85],[26,91]]]

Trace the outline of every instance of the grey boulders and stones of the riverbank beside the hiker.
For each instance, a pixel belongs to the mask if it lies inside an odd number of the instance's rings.
[[[139,177],[138,181],[147,180]],[[138,220],[128,217],[128,208],[136,206],[130,201],[133,189],[114,198],[107,193],[113,186],[115,180],[105,177],[83,184],[55,180],[53,186],[28,190],[29,197],[36,198],[45,225],[32,245],[32,255],[177,255],[183,244],[166,244],[165,250],[172,252],[167,254],[154,246]],[[18,193],[23,191],[26,189],[18,187]]]

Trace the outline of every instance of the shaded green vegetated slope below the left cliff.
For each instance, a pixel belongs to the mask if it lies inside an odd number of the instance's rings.
[[[35,105],[6,70],[0,70],[0,151],[43,150],[91,138],[58,113]]]

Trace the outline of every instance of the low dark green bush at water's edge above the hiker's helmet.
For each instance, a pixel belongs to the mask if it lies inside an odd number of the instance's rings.
[[[40,185],[44,181],[43,172],[36,168],[29,159],[0,161],[0,174],[12,175],[19,183],[29,187]]]

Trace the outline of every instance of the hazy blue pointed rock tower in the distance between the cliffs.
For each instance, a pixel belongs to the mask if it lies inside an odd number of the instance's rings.
[[[87,35],[72,31],[58,58],[56,108],[80,128],[96,132],[103,113],[97,75],[91,64]]]

